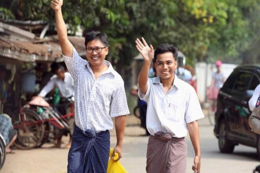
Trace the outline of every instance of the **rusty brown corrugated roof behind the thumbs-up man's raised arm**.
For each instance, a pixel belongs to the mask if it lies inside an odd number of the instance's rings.
[[[70,36],[68,38],[80,55],[86,54],[84,37]],[[46,41],[37,40],[37,43],[10,40],[0,37],[0,56],[21,61],[54,61],[56,58],[62,57],[60,42],[57,36],[45,39]],[[28,59],[25,57],[28,57]]]

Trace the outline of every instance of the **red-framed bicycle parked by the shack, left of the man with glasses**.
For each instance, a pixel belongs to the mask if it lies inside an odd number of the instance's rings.
[[[50,98],[45,98],[46,101],[51,101]],[[58,129],[70,129],[67,117],[74,116],[74,101],[68,99],[67,106],[70,107],[70,113],[61,115],[55,111],[52,106],[30,104],[20,110],[19,119],[14,122],[14,129],[17,130],[17,139],[14,145],[20,149],[31,149],[42,146],[51,133],[51,126]],[[47,105],[47,106],[46,106]]]

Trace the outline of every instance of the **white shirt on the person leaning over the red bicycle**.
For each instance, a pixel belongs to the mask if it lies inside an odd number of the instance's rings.
[[[57,75],[53,75],[50,81],[43,87],[39,93],[41,97],[45,97],[56,86],[59,89],[61,97],[68,98],[74,95],[74,82],[70,73],[64,73],[64,80],[58,79]]]

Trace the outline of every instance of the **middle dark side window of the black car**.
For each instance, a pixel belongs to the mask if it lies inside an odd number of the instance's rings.
[[[240,72],[235,83],[234,89],[238,91],[245,91],[247,89],[252,73]]]

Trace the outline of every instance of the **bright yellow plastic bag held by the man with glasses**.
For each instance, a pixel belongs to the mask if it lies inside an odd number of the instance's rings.
[[[114,149],[110,148],[109,152],[109,161],[107,165],[107,173],[127,173],[125,168],[119,161],[115,161],[118,159],[118,153],[115,153],[114,158],[111,159]]]

